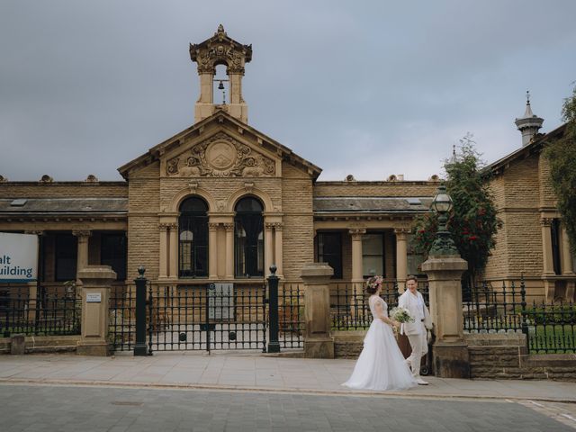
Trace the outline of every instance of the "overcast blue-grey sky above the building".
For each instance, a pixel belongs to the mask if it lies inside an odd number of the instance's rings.
[[[559,126],[576,1],[0,0],[0,175],[118,180],[193,124],[188,43],[252,44],[248,123],[320,180],[441,174],[466,132],[492,162],[525,110]]]

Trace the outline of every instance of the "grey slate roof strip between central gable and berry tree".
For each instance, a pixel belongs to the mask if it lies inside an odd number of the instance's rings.
[[[433,197],[368,197],[368,196],[317,196],[314,213],[333,212],[425,212],[429,211]]]

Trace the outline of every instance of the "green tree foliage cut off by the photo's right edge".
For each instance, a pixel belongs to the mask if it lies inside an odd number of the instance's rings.
[[[558,211],[576,254],[576,86],[564,99],[562,109],[566,127],[563,136],[547,142],[544,155],[550,163],[550,181],[558,201]]]

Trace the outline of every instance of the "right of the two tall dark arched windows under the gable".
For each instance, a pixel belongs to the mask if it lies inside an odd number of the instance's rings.
[[[237,277],[264,275],[264,207],[256,198],[242,198],[234,217],[234,261]]]

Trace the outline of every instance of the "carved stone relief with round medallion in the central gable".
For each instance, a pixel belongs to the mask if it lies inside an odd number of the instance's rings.
[[[179,177],[270,177],[275,171],[273,159],[222,132],[166,161],[166,175]]]

